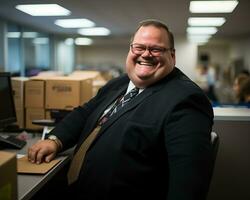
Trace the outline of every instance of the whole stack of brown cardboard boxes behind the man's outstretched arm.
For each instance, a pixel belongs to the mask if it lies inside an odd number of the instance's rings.
[[[90,100],[106,84],[98,71],[76,71],[69,76],[12,78],[20,128],[40,130],[33,120],[49,119],[50,111],[73,110]]]

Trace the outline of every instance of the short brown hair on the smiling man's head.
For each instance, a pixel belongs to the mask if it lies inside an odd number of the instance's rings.
[[[159,20],[156,20],[156,19],[147,19],[147,20],[141,21],[139,23],[138,27],[136,28],[134,35],[131,37],[131,40],[130,40],[131,43],[133,42],[134,36],[137,33],[137,31],[141,27],[145,27],[145,26],[154,26],[154,27],[163,28],[164,30],[166,30],[167,35],[168,35],[168,39],[169,39],[169,43],[170,43],[170,48],[172,50],[174,50],[174,35],[173,35],[173,33],[169,30],[168,26],[165,23],[163,23]]]

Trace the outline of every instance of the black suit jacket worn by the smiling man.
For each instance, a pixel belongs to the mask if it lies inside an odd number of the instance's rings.
[[[103,111],[123,94],[127,75],[110,81],[52,131],[76,149]],[[211,104],[175,68],[101,128],[76,183],[79,199],[205,199],[211,172]]]

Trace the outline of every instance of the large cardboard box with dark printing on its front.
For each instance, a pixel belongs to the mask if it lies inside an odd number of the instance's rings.
[[[92,97],[92,79],[53,77],[46,80],[46,109],[72,110]]]

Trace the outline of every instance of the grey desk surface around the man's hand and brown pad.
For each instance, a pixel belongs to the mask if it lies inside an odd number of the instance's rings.
[[[27,154],[27,149],[30,145],[34,144],[41,138],[41,134],[34,134],[32,138],[27,140],[27,144],[18,151],[8,150],[10,152],[16,152],[18,154]],[[37,193],[50,179],[52,179],[68,162],[70,156],[68,152],[59,154],[57,157],[61,161],[53,167],[45,175],[24,175],[18,174],[17,176],[17,187],[18,187],[18,200],[31,199],[35,193]]]

